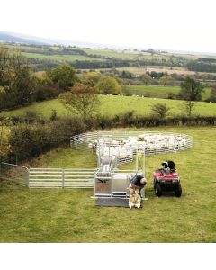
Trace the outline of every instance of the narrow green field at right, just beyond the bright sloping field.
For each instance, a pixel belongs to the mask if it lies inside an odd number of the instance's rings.
[[[129,85],[127,89],[130,94],[150,95],[151,97],[166,98],[167,94],[173,93],[178,94],[180,91],[180,86],[161,86],[161,85]],[[204,101],[210,97],[211,89],[205,88],[202,94],[202,100]]]

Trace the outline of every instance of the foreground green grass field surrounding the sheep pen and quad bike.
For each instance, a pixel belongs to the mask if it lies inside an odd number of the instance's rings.
[[[192,135],[194,145],[183,152],[147,157],[144,208],[96,207],[92,189],[28,190],[4,182],[0,242],[215,242],[216,129],[145,130]],[[181,198],[154,195],[152,172],[166,159],[175,160],[181,175]],[[94,167],[95,156],[65,148],[40,157],[35,166]]]

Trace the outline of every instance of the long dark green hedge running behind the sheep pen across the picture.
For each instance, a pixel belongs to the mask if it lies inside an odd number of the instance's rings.
[[[52,148],[68,145],[70,136],[89,130],[104,130],[125,127],[159,127],[159,126],[208,126],[216,125],[216,117],[175,117],[157,119],[135,116],[132,112],[116,115],[114,118],[98,117],[85,121],[80,118],[61,118],[48,121],[38,115],[14,117],[11,119],[10,144],[13,161],[39,157]]]

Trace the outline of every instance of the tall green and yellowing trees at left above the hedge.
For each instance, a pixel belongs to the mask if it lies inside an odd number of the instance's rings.
[[[120,82],[100,73],[77,76],[74,67],[62,64],[36,76],[18,52],[0,49],[0,110],[58,97],[79,84],[90,85],[97,94],[122,94]],[[77,89],[77,87],[75,88]]]

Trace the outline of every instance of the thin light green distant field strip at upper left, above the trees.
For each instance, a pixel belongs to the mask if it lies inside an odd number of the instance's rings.
[[[40,53],[29,53],[29,52],[23,52],[23,55],[26,58],[49,59],[49,60],[54,60],[54,61],[59,61],[59,62],[65,62],[65,61],[75,62],[76,60],[78,61],[103,61],[103,59],[100,59],[100,58],[88,58],[81,55],[45,55],[45,54],[40,54]]]

